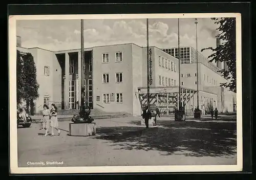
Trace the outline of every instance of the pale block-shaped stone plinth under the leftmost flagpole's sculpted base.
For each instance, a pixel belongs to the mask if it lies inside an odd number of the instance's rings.
[[[94,136],[96,134],[96,123],[70,123],[70,136]]]

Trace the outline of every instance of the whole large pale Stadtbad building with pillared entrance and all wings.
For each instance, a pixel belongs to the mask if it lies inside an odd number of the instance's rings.
[[[79,109],[81,68],[83,68],[84,82],[87,87],[86,102],[91,108],[105,112],[141,115],[143,102],[139,95],[141,90],[147,86],[147,48],[139,47],[134,43],[86,48],[84,49],[84,67],[81,67],[80,49],[55,52],[40,48],[27,49],[22,47],[20,37],[18,38],[17,50],[31,53],[36,64],[39,97],[35,100],[35,113],[40,113],[44,104],[51,103],[55,103],[60,109]],[[177,94],[178,59],[157,47],[150,47],[149,59],[151,93],[154,93],[154,89],[158,89],[157,91],[161,93],[162,89],[166,90],[167,88],[167,92]],[[182,86],[195,92],[196,63],[191,60],[190,58],[188,60],[190,63],[181,65],[181,81]],[[223,88],[218,84],[222,82],[223,78],[220,75],[216,78],[218,73],[212,70],[210,72],[208,69],[203,63],[200,63],[199,95],[202,100],[200,105],[203,105],[208,98],[212,100],[212,103],[215,102],[214,107],[222,109],[222,96],[226,96],[226,94],[221,94]],[[205,81],[203,76],[207,76],[208,81]],[[154,101],[154,105],[159,106],[162,111],[173,111],[174,106],[170,106],[168,103],[160,107],[159,96],[157,96],[156,102]],[[186,98],[184,106],[188,104],[189,98]],[[193,97],[193,103],[189,102],[191,107],[196,105],[195,98],[196,96]],[[171,103],[175,104],[177,98],[174,101]],[[224,104],[225,106],[227,105]],[[190,109],[188,105],[186,108]],[[227,108],[228,111],[233,111],[233,108],[229,108],[229,106]]]

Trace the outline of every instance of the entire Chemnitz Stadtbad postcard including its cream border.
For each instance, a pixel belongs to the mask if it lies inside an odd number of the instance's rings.
[[[17,15],[9,42],[12,173],[242,170],[240,14]]]

